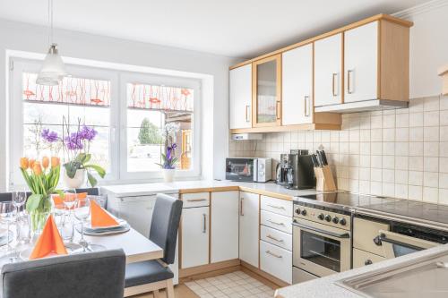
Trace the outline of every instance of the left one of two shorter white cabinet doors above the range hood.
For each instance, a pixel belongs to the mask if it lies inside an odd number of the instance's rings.
[[[342,103],[342,33],[314,42],[314,106]]]

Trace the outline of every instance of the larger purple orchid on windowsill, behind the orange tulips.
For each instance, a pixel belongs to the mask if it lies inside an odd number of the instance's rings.
[[[95,139],[98,132],[93,128],[85,124],[81,125],[81,119],[78,119],[78,127],[76,132],[70,132],[70,125],[66,123],[65,117],[63,118],[63,135],[59,137],[57,132],[50,131],[49,129],[42,130],[41,137],[48,144],[56,142],[62,143],[64,148],[65,173],[69,178],[74,178],[77,170],[86,170],[87,178],[92,187],[94,187],[98,181],[90,173],[91,170],[97,172],[97,174],[104,178],[106,171],[104,168],[98,165],[90,164],[90,143]]]

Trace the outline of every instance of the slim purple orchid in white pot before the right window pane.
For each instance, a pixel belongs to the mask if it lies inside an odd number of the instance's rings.
[[[179,131],[179,124],[168,123],[164,128],[165,153],[161,154],[162,163],[158,164],[162,168],[163,181],[171,183],[176,175],[176,134]]]

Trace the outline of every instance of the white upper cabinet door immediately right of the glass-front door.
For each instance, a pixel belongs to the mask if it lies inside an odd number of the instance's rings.
[[[281,123],[313,123],[313,44],[281,56]]]

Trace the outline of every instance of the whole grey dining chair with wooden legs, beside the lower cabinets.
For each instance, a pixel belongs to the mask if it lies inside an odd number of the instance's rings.
[[[126,265],[125,297],[167,289],[174,298],[173,272],[168,268],[176,257],[177,230],[182,213],[182,200],[159,193],[152,211],[150,240],[163,249],[163,258]]]

